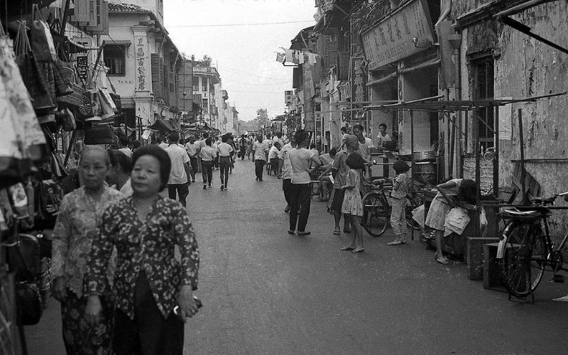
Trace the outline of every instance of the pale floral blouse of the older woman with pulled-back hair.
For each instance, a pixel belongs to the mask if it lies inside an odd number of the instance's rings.
[[[77,297],[82,297],[84,292],[91,246],[93,239],[98,236],[102,214],[123,197],[121,192],[104,187],[101,199],[96,202],[80,187],[65,195],[61,201],[53,230],[51,274],[53,278],[62,276],[67,288]],[[112,273],[112,267],[106,271],[109,283]]]

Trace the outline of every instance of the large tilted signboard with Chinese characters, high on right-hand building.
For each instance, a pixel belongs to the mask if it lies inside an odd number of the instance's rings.
[[[415,38],[418,47],[413,42]],[[361,34],[369,70],[407,58],[434,43],[432,19],[425,0],[415,0]]]

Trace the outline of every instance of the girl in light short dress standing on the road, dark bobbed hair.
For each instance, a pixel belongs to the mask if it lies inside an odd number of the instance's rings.
[[[352,253],[361,253],[365,251],[363,246],[363,228],[361,227],[361,217],[363,217],[363,202],[361,201],[361,169],[365,167],[365,160],[359,153],[351,153],[345,160],[349,166],[347,180],[342,190],[345,190],[345,197],[342,204],[342,213],[345,219],[349,219],[353,227],[351,243],[344,246],[342,251],[351,251]]]

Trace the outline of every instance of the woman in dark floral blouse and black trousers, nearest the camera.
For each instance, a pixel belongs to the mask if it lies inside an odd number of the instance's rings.
[[[140,349],[143,354],[182,354],[184,322],[197,312],[192,295],[199,268],[197,241],[184,207],[158,195],[170,175],[168,153],[145,146],[132,160],[133,195],[107,209],[101,237],[93,243],[87,318],[92,324],[100,320],[99,295],[116,246],[114,354],[138,354]],[[175,244],[181,262],[175,259]]]

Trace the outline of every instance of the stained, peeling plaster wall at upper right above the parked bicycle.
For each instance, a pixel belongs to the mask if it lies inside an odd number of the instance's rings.
[[[555,43],[568,43],[568,3],[553,1],[514,16]],[[535,97],[568,89],[568,55],[505,27],[499,33],[502,58],[495,62],[496,97]],[[513,163],[519,158],[518,109],[522,110],[525,158],[568,158],[568,97],[540,99],[514,104],[512,139],[500,141],[500,182],[510,183]],[[545,195],[568,190],[568,161],[528,163],[526,168],[540,182]],[[564,202],[559,202],[564,204]],[[552,224],[557,232],[566,229],[566,212],[556,212]]]

